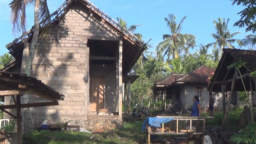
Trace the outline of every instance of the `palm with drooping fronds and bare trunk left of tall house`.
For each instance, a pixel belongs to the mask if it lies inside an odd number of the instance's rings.
[[[47,0],[12,0],[9,4],[11,8],[10,21],[13,25],[13,34],[26,32],[26,7],[32,4],[34,6],[34,34],[29,49],[28,60],[26,60],[25,73],[30,76],[34,53],[38,46],[38,38],[48,38],[50,36],[50,12],[47,6]],[[39,35],[39,28],[42,32]],[[45,37],[46,36],[46,37]]]

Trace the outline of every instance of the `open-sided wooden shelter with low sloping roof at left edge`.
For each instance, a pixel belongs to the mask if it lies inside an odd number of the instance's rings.
[[[24,95],[37,97],[38,101],[24,103]],[[22,109],[59,105],[64,95],[50,88],[41,80],[18,74],[0,71],[0,97],[5,104],[0,110],[17,120],[18,144],[22,144]]]

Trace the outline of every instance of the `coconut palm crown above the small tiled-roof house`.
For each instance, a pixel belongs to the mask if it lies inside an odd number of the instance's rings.
[[[168,18],[164,18],[167,23],[168,28],[170,29],[170,34],[164,34],[164,41],[160,42],[156,46],[156,53],[158,58],[167,56],[167,60],[170,60],[170,57],[178,58],[179,51],[186,50],[187,39],[195,39],[196,37],[192,34],[181,34],[181,25],[186,19],[186,16],[182,18],[179,24],[176,22],[176,16],[169,14]]]

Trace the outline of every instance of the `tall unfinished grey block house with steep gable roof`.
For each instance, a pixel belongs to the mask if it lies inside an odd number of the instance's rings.
[[[144,51],[143,42],[87,0],[64,2],[52,14],[50,34],[49,42],[39,41],[31,76],[65,98],[58,106],[30,108],[32,122],[72,122],[94,131],[121,124],[122,89],[126,90],[122,84],[130,86],[138,78],[128,72]],[[25,45],[24,35],[28,36]],[[6,46],[14,59],[4,71],[24,73],[33,28],[24,35]],[[39,101],[29,98],[27,103]],[[98,116],[99,109],[119,115]],[[26,131],[31,117],[24,111]]]

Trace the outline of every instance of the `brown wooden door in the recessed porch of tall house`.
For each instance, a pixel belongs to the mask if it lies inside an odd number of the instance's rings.
[[[91,78],[90,112],[104,108],[104,78]]]

